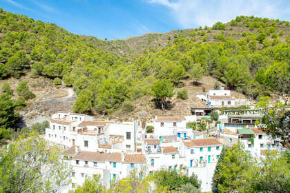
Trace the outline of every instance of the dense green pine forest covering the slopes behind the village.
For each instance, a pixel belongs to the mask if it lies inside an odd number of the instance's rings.
[[[229,30],[226,25],[231,26]],[[247,30],[231,34],[235,26]],[[182,79],[198,81],[202,74],[253,99],[289,93],[288,21],[241,16],[212,28],[184,31],[168,36],[163,48],[150,48],[137,56],[120,55],[98,46],[109,46],[106,41],[93,43],[55,24],[0,10],[0,77],[20,79],[28,74],[55,82],[62,79],[78,94],[75,112],[101,114],[153,94],[155,81],[166,79],[182,86]]]

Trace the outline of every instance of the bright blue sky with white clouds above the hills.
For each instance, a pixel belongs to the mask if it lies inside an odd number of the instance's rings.
[[[290,21],[290,0],[0,0],[0,7],[100,39],[212,26],[240,15]]]

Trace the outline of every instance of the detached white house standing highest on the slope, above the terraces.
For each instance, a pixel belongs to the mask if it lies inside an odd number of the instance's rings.
[[[209,90],[206,93],[206,105],[209,108],[234,107],[235,99],[231,90]]]

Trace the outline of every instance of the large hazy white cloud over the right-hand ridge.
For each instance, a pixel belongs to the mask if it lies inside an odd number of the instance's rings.
[[[171,10],[182,28],[212,26],[217,21],[227,22],[239,15],[254,15],[289,20],[289,1],[271,0],[147,0]]]

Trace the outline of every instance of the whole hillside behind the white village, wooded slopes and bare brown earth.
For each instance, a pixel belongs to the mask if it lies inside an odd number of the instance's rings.
[[[122,120],[188,114],[203,105],[195,95],[216,81],[242,98],[289,93],[289,28],[288,21],[237,17],[212,28],[103,41],[0,10],[0,78],[13,89],[28,80],[36,98],[21,112],[26,122],[57,110]],[[155,108],[151,90],[164,79],[189,92],[184,101],[173,96],[166,111]],[[124,112],[125,101],[133,112]]]

